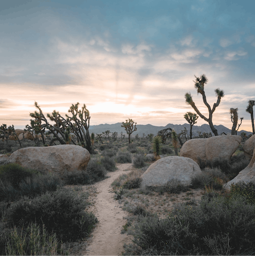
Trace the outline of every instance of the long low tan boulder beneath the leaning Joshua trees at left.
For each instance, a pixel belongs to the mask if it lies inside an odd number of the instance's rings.
[[[85,170],[90,154],[81,146],[57,145],[48,147],[25,147],[13,152],[10,162],[25,168],[57,172]]]

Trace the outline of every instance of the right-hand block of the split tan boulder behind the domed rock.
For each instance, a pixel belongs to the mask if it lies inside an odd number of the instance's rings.
[[[206,159],[213,161],[217,158],[230,160],[240,145],[242,137],[239,135],[215,136],[207,139]]]

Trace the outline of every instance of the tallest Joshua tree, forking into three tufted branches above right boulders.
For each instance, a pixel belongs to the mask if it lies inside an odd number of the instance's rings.
[[[211,130],[213,131],[214,135],[218,136],[218,131],[213,125],[213,113],[214,113],[215,109],[217,108],[217,106],[219,105],[221,98],[224,97],[224,91],[220,90],[219,88],[215,89],[215,93],[216,93],[216,96],[218,96],[218,98],[217,98],[217,102],[214,103],[213,109],[211,109],[211,106],[208,104],[208,102],[206,100],[206,94],[205,94],[205,90],[204,90],[205,84],[207,84],[207,81],[208,81],[208,79],[206,78],[206,75],[201,75],[200,77],[196,77],[196,80],[194,81],[194,83],[195,83],[195,88],[197,89],[198,94],[200,93],[203,97],[203,103],[205,103],[205,105],[208,108],[208,111],[209,111],[208,118],[206,118],[205,115],[200,113],[197,106],[193,102],[192,96],[190,93],[185,94],[185,100],[186,100],[186,104],[191,105],[192,108],[194,109],[194,111],[196,111],[198,113],[199,117],[201,117],[203,120],[206,120],[209,123],[209,126],[210,126]]]

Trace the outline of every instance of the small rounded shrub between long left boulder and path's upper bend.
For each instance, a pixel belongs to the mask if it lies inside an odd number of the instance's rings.
[[[97,158],[90,159],[86,171],[91,177],[93,183],[95,181],[104,179],[107,174],[105,167],[100,163],[100,161]]]

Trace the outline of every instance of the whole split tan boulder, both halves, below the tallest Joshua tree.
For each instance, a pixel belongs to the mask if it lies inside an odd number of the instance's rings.
[[[241,143],[241,136],[222,135],[205,139],[190,139],[181,148],[180,155],[191,158],[197,163],[215,160],[217,158],[230,160],[236,148]]]

